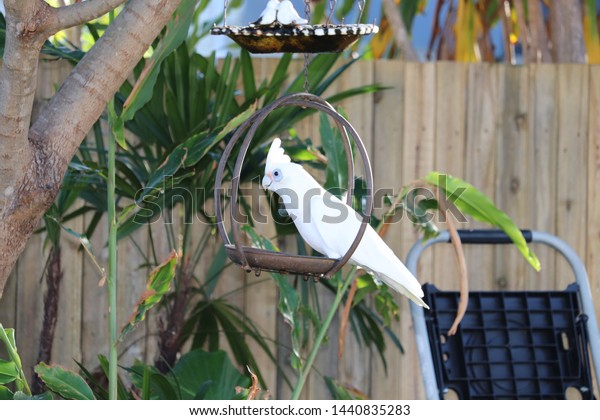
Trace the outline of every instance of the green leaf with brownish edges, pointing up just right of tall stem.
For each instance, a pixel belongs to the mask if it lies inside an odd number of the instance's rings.
[[[129,331],[135,328],[137,324],[144,320],[146,312],[160,302],[163,296],[169,291],[171,288],[171,280],[175,277],[175,268],[178,260],[179,256],[177,255],[177,252],[173,251],[165,262],[150,273],[146,284],[146,290],[139,298],[134,312],[129,317],[127,325],[125,325],[121,332],[121,340]]]

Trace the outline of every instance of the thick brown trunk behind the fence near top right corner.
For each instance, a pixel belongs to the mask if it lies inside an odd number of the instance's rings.
[[[585,63],[581,4],[573,0],[550,2],[552,57],[557,63]]]

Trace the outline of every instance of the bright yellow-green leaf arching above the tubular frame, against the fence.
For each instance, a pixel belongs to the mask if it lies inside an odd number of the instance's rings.
[[[527,242],[519,228],[506,213],[494,205],[488,196],[462,179],[439,172],[429,173],[425,180],[444,191],[446,197],[464,214],[477,221],[489,223],[502,229],[512,239],[525,260],[536,271],[540,271],[540,261],[527,246]]]

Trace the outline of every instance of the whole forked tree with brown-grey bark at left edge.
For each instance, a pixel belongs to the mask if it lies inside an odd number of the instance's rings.
[[[51,33],[104,14],[123,1],[86,1],[58,9],[39,0],[4,2],[0,297],[27,239],[54,201],[79,144],[180,0],[130,0],[28,129],[41,46]]]

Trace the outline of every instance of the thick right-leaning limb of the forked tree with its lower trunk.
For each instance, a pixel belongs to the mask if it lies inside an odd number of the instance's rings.
[[[0,160],[13,180],[0,210],[0,297],[27,239],[56,198],[79,144],[179,3],[129,0],[31,126],[26,156]]]

